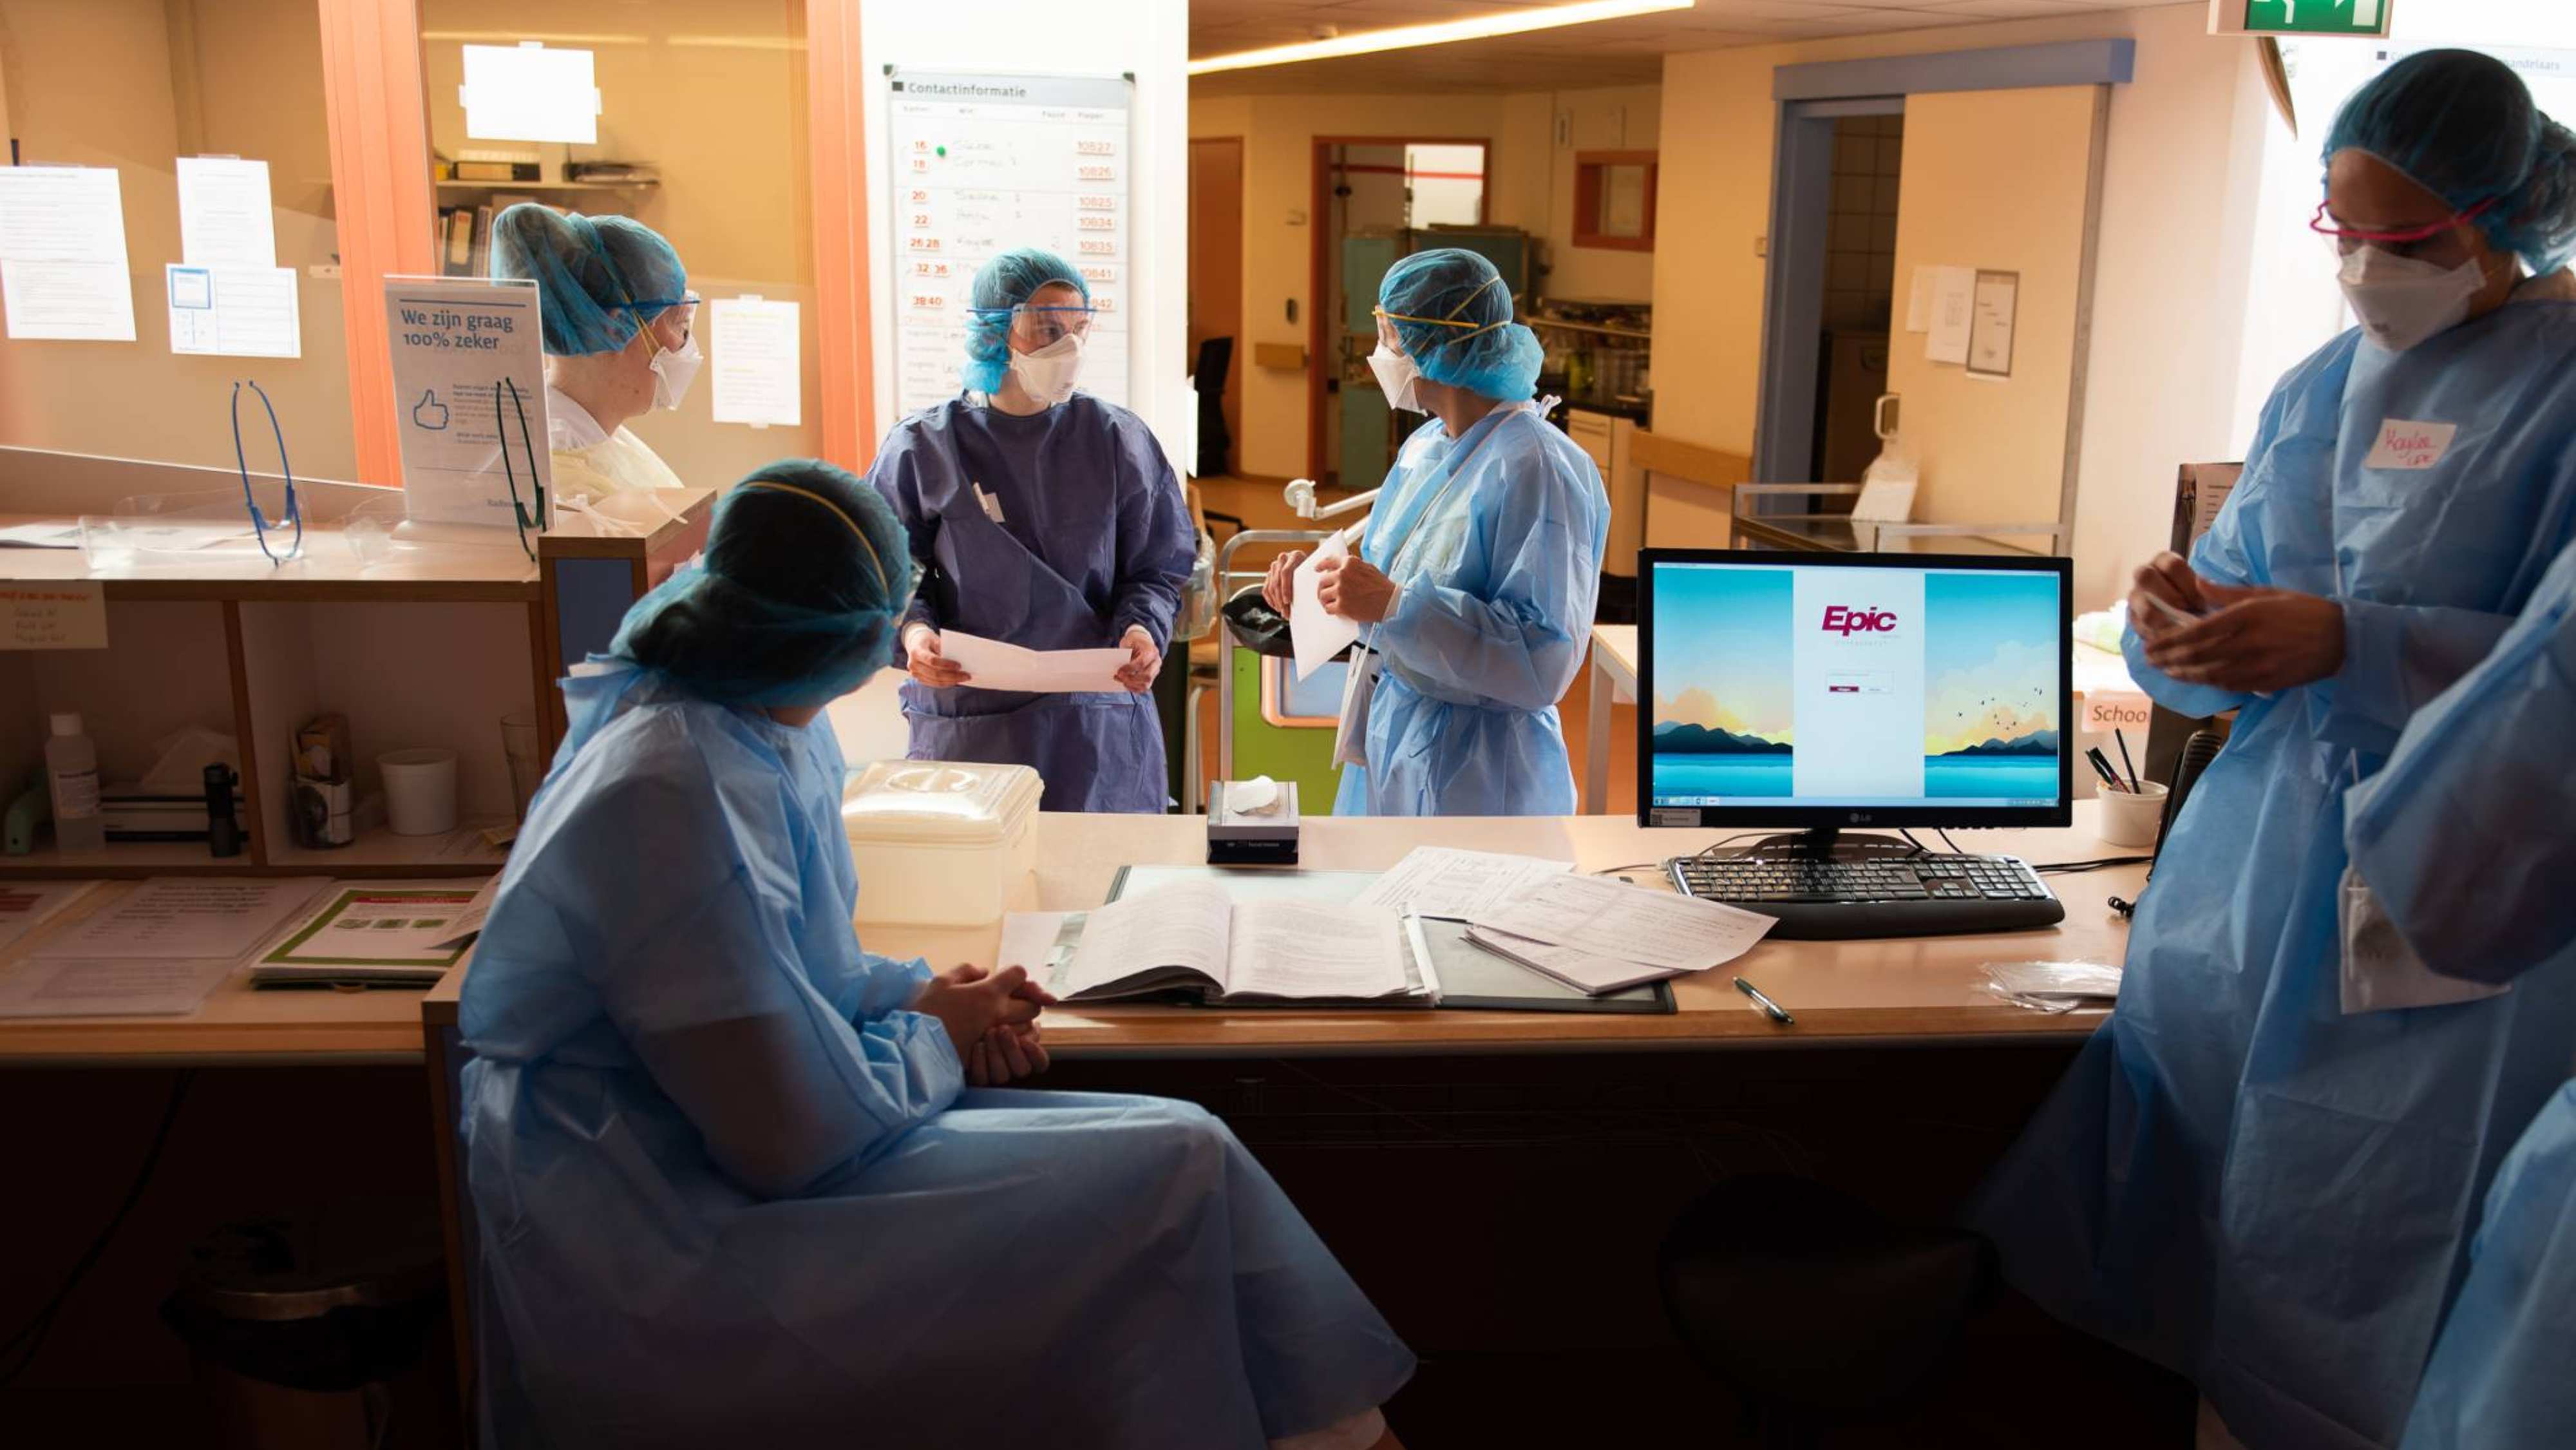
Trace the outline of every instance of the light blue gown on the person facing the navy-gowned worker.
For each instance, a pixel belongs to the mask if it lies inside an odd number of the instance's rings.
[[[1556,701],[1584,667],[1607,541],[1600,469],[1533,404],[1455,443],[1437,417],[1417,428],[1360,538],[1401,592],[1360,631],[1383,672],[1368,765],[1342,767],[1332,811],[1571,816]]]

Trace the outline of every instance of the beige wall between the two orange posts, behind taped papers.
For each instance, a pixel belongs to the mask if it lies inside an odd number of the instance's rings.
[[[641,160],[662,167],[654,191],[549,193],[574,211],[616,211],[662,232],[680,250],[701,296],[760,294],[801,304],[804,425],[716,422],[706,368],[675,412],[634,420],[680,479],[721,487],[773,458],[822,453],[822,394],[814,371],[814,196],[806,149],[806,52],[801,0],[420,0],[430,144],[541,149],[554,180],[564,147],[474,142],[456,88],[466,44],[518,36],[587,36],[600,85],[600,142],[574,160]],[[572,44],[572,41],[554,41]],[[479,193],[440,193],[440,206]],[[698,314],[701,348],[708,314]],[[721,343],[716,343],[721,345]]]

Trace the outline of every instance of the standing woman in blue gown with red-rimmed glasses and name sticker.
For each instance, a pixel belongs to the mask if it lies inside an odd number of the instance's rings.
[[[2488,1177],[2576,1043],[2563,981],[2360,1010],[2339,932],[2347,791],[2576,533],[2576,142],[2501,62],[2421,52],[2324,160],[2362,325],[2280,381],[2210,533],[2128,603],[2141,688],[2233,737],[2112,1020],[1973,1205],[2022,1290],[2192,1375],[2254,1450],[2398,1440]]]

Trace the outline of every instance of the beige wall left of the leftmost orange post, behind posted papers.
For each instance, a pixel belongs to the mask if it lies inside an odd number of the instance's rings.
[[[229,469],[232,379],[258,379],[296,474],[353,479],[340,283],[312,276],[337,260],[312,0],[0,0],[0,64],[23,160],[118,170],[137,337],[0,343],[0,443]],[[201,152],[268,162],[304,358],[170,353],[173,162]],[[252,469],[276,466],[265,433],[245,422]]]

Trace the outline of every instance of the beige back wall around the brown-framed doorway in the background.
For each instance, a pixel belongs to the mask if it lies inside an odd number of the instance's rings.
[[[1569,142],[1556,142],[1556,116]],[[1236,469],[1306,471],[1306,373],[1252,366],[1252,345],[1306,345],[1316,137],[1486,142],[1486,221],[1548,240],[1546,296],[1646,301],[1654,258],[1574,247],[1574,152],[1646,149],[1654,85],[1510,95],[1257,95],[1190,103],[1193,137],[1244,139],[1244,420]],[[1296,304],[1296,319],[1288,306]]]

